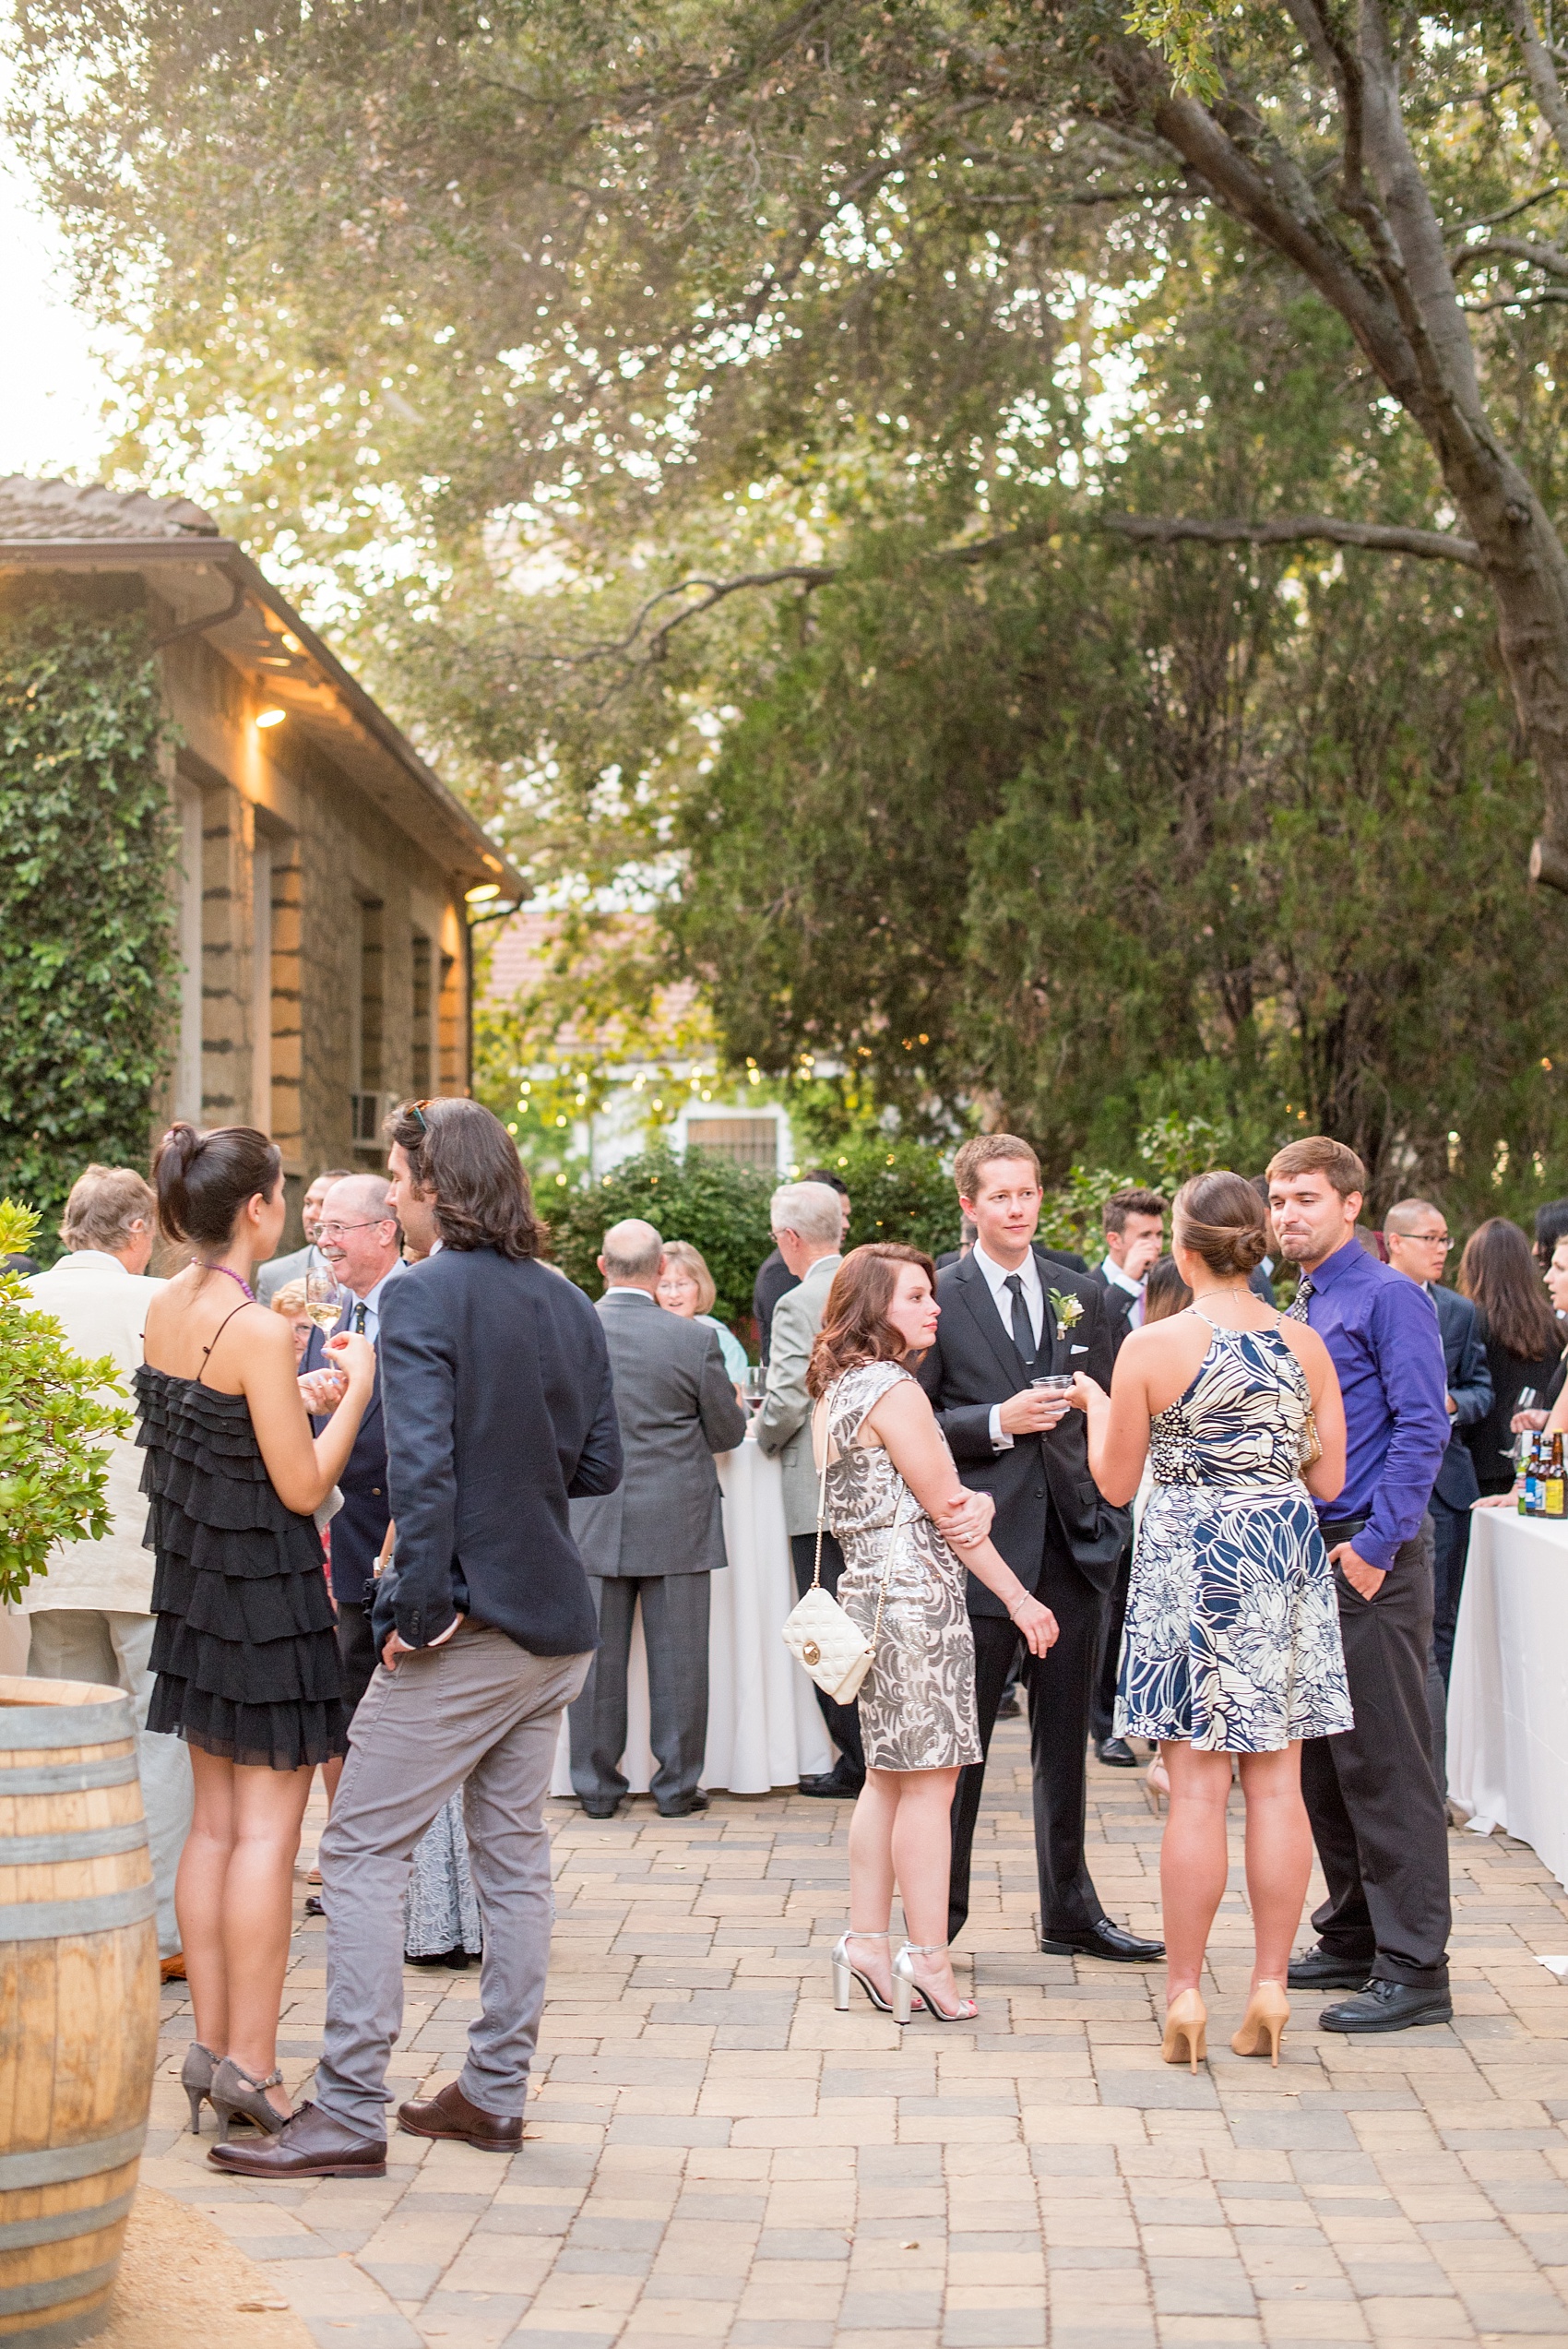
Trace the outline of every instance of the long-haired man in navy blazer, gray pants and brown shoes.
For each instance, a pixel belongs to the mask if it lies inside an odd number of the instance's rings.
[[[441,1247],[383,1292],[397,1557],[373,1604],[380,1668],[322,1837],[317,2095],[265,2145],[216,2147],[218,2168],[249,2178],[383,2175],[408,1863],[458,1788],[484,1914],[479,2015],[462,2077],[399,2121],[486,2152],[521,2145],[552,1926],[545,1797],[594,1649],[568,1501],[622,1473],[603,1325],[538,1261],[542,1226],[505,1125],[444,1099],[401,1109],[390,1130],[397,1217],[415,1247]]]

